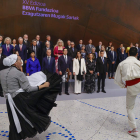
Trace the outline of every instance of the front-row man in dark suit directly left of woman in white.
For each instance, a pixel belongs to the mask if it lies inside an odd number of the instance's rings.
[[[67,54],[68,54],[68,50],[66,48],[64,48],[63,55],[60,56],[58,59],[58,71],[59,71],[59,75],[61,75],[61,76],[65,76],[67,68],[69,68],[69,70],[70,70],[69,75],[71,75],[71,72],[72,72],[71,57],[69,57]],[[65,94],[67,94],[67,95],[69,95],[68,84],[69,84],[69,81],[65,82]],[[62,84],[61,84],[61,92],[62,92]],[[59,95],[61,95],[61,92],[59,93]]]

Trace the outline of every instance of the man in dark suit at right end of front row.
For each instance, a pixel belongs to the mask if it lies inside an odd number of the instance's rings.
[[[97,93],[100,92],[100,82],[102,80],[102,92],[106,93],[105,91],[105,78],[107,75],[107,58],[104,57],[104,51],[101,51],[101,57],[97,58],[96,61],[96,71],[98,76],[98,90]]]

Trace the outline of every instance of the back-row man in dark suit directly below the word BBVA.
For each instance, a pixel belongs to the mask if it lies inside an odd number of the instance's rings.
[[[27,59],[30,58],[30,42],[28,40],[28,35],[24,34],[23,36],[23,45],[27,48]]]

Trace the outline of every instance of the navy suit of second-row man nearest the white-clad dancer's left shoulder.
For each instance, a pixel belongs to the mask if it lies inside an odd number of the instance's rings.
[[[111,77],[114,76],[116,60],[117,60],[117,53],[114,52],[114,57],[113,57],[112,51],[108,52],[108,62],[109,62],[108,76],[109,77],[110,77],[110,73],[111,73]],[[114,64],[112,64],[113,61],[115,61]]]

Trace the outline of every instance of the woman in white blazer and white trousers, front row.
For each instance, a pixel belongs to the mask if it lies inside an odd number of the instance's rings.
[[[76,58],[73,60],[73,75],[75,78],[74,93],[77,95],[81,93],[83,74],[86,74],[85,59],[81,58],[81,53],[78,51]]]

